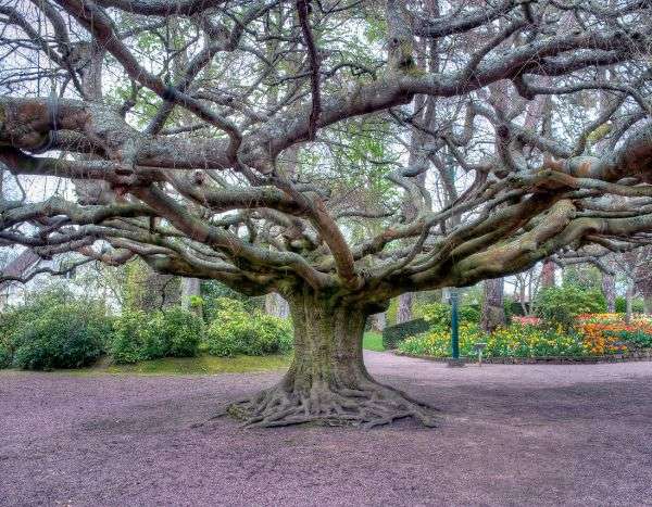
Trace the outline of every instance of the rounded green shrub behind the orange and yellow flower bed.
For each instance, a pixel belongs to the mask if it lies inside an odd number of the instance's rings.
[[[549,287],[537,294],[537,314],[552,327],[570,329],[580,314],[604,312],[604,295],[597,290],[584,290],[574,284]]]

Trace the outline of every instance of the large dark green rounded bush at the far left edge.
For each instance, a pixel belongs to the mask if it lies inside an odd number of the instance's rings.
[[[95,362],[111,333],[98,302],[52,288],[2,315],[0,363],[24,369],[78,368]]]

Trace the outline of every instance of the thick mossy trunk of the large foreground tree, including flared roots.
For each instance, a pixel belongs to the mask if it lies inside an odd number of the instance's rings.
[[[305,422],[374,427],[414,417],[434,424],[432,409],[376,382],[362,357],[367,315],[314,295],[291,297],[294,358],[279,384],[233,404],[228,413],[249,427]]]

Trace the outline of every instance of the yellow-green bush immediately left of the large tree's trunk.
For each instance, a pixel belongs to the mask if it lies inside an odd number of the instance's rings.
[[[215,319],[206,335],[208,352],[216,356],[285,354],[292,348],[288,320],[250,313],[238,300],[218,297]]]

